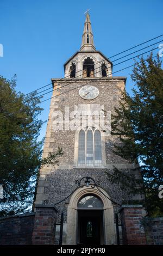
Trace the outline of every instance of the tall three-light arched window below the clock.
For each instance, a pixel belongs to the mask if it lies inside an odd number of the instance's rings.
[[[79,132],[78,166],[102,166],[101,132],[95,127]]]

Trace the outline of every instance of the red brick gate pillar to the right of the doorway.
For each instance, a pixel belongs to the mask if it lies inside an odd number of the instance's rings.
[[[146,245],[146,235],[141,219],[142,205],[122,205],[122,235],[124,245]]]

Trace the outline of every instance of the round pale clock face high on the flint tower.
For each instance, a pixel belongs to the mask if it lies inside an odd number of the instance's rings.
[[[99,94],[99,90],[95,86],[84,86],[79,90],[79,95],[85,100],[95,99]]]

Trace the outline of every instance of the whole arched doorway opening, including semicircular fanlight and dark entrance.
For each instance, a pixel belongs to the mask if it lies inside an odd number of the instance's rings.
[[[85,194],[80,198],[78,202],[78,244],[104,244],[103,206],[102,200],[93,194]]]

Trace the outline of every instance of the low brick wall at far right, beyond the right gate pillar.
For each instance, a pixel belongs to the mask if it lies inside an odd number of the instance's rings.
[[[163,217],[146,218],[145,230],[148,245],[163,245]]]

